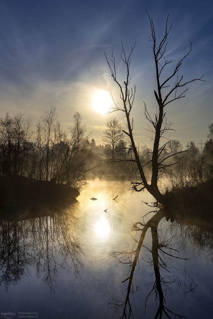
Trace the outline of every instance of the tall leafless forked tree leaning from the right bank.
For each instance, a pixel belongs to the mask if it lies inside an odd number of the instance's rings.
[[[156,90],[154,90],[154,95],[157,102],[157,112],[154,118],[151,117],[147,110],[146,104],[144,103],[145,117],[149,122],[148,130],[154,133],[152,157],[150,160],[152,165],[151,183],[148,183],[147,181],[147,177],[144,173],[144,166],[141,164],[139,152],[135,145],[135,141],[133,138],[133,120],[130,116],[136,93],[136,87],[134,86],[132,88],[130,86],[130,61],[135,44],[131,48],[130,53],[126,54],[126,51],[124,50],[122,43],[121,59],[126,67],[126,79],[123,81],[123,83],[120,83],[117,79],[115,57],[113,53],[111,58],[107,58],[106,54],[105,57],[109,65],[111,76],[115,83],[118,85],[120,90],[120,102],[114,101],[115,106],[113,107],[112,112],[117,110],[124,112],[124,117],[126,120],[126,130],[123,131],[128,137],[131,145],[129,150],[129,154],[131,156],[126,158],[126,160],[130,161],[133,164],[134,169],[136,169],[136,171],[139,173],[141,177],[141,182],[132,182],[133,189],[136,191],[141,191],[144,188],[146,188],[149,191],[149,193],[157,199],[157,201],[159,201],[161,204],[166,204],[165,197],[158,188],[159,173],[161,171],[165,173],[168,172],[168,169],[171,167],[171,164],[167,164],[166,160],[172,156],[172,154],[167,154],[165,152],[166,145],[169,141],[167,141],[164,144],[160,143],[161,138],[164,137],[164,134],[171,130],[171,122],[167,121],[165,107],[176,100],[184,98],[185,93],[187,91],[186,85],[196,80],[202,81],[202,77],[184,82],[183,76],[179,76],[178,74],[182,62],[191,52],[191,42],[189,51],[178,61],[174,68],[171,69],[170,75],[168,75],[168,70],[166,73],[164,72],[164,70],[166,70],[166,68],[169,65],[171,65],[171,60],[167,60],[165,57],[166,47],[168,44],[168,36],[171,30],[171,26],[168,26],[167,17],[164,36],[160,41],[157,41],[154,23],[150,17],[149,21],[151,28],[151,36],[149,39],[152,43],[152,54],[156,71]],[[166,75],[164,75],[164,73]],[[140,187],[140,189],[138,189],[138,187]]]

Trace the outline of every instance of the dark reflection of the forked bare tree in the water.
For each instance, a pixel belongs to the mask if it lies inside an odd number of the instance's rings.
[[[165,306],[165,296],[168,292],[171,294],[173,289],[175,289],[176,292],[181,291],[181,293],[184,294],[193,292],[196,284],[185,269],[182,269],[185,277],[185,280],[182,283],[177,275],[172,275],[171,267],[168,267],[168,262],[172,261],[174,258],[183,260],[186,260],[187,258],[182,258],[179,251],[172,247],[176,243],[174,243],[171,237],[169,238],[168,229],[164,231],[162,229],[158,229],[165,221],[164,211],[156,210],[152,212],[155,212],[155,215],[146,223],[137,222],[132,225],[132,231],[141,232],[140,238],[138,238],[137,235],[132,234],[132,238],[134,239],[132,248],[128,245],[127,250],[110,252],[104,258],[104,260],[115,258],[118,263],[128,265],[126,278],[122,281],[122,283],[127,284],[125,289],[125,300],[120,301],[112,299],[112,301],[109,302],[109,308],[114,309],[113,315],[118,311],[121,311],[121,318],[133,318],[130,296],[135,291],[141,289],[140,286],[133,285],[133,274],[136,266],[139,266],[140,261],[145,261],[144,258],[147,257],[148,260],[146,260],[146,263],[153,267],[152,276],[154,281],[148,284],[149,292],[145,298],[145,311],[149,297],[154,296],[157,303],[155,319],[161,319],[163,316],[168,318],[186,318],[184,315],[177,314],[173,312],[172,309]],[[144,244],[145,235],[148,233],[149,228],[151,230],[151,248]],[[143,253],[142,248],[148,251],[149,255],[145,252]],[[165,273],[167,273],[167,275],[164,276]]]

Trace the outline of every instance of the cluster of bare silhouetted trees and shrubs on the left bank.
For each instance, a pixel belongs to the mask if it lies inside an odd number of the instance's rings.
[[[32,179],[68,184],[80,189],[89,170],[87,134],[80,113],[64,130],[55,107],[40,116],[36,129],[24,114],[0,118],[0,175],[21,175]]]

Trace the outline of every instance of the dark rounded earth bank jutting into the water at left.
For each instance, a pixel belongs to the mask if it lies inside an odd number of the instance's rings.
[[[65,210],[80,195],[77,189],[49,181],[38,181],[23,176],[0,177],[0,217],[14,220],[15,216],[47,216]],[[15,218],[15,219],[16,219]]]

